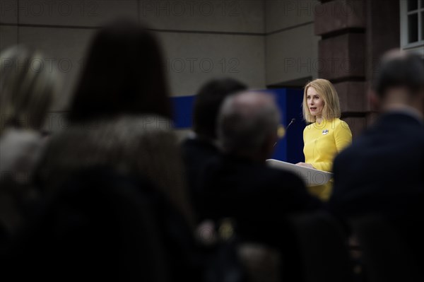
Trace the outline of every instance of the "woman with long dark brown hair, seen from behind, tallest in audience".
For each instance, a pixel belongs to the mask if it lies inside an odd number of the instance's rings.
[[[71,100],[71,125],[52,138],[43,159],[39,176],[45,189],[94,166],[141,173],[191,223],[168,96],[155,36],[127,21],[102,28]]]

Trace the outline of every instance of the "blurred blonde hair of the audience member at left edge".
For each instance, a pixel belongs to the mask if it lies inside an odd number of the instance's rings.
[[[7,127],[40,130],[57,90],[57,71],[23,46],[0,54],[0,136]]]

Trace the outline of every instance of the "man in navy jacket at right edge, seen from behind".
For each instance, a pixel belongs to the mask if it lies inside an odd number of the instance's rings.
[[[386,54],[371,97],[381,115],[334,161],[329,204],[342,218],[401,216],[423,206],[423,60],[415,54]]]

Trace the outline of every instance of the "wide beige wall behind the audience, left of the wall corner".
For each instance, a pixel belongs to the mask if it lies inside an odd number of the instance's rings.
[[[119,17],[148,23],[157,33],[169,61],[172,95],[193,95],[216,76],[265,87],[264,1],[53,2],[0,0],[0,48],[37,47],[64,74],[64,90],[53,110],[66,109],[95,30]]]

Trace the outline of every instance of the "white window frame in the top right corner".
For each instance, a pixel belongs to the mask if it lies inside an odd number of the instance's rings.
[[[424,6],[421,6],[421,0],[418,0],[418,42],[408,43],[408,0],[399,0],[400,13],[401,13],[401,49],[407,52],[415,52],[424,57],[424,37],[423,24],[424,18],[421,12],[424,11]]]

